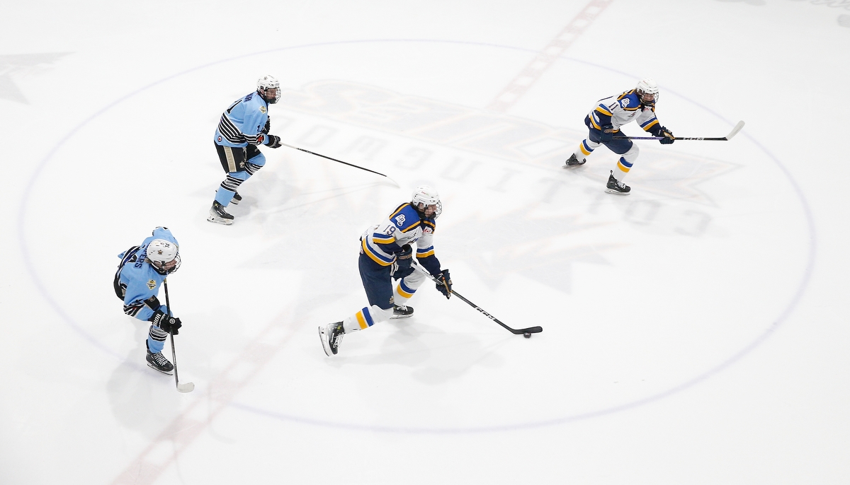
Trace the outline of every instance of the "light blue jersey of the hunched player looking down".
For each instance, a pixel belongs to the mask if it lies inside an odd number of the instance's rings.
[[[165,227],[157,227],[153,235],[145,239],[140,246],[133,246],[118,254],[121,264],[118,266],[117,282],[124,292],[124,313],[139,320],[148,320],[155,309],[161,309],[163,313],[168,312],[166,305],[160,304],[156,298],[167,275],[161,275],[153,265],[144,260],[147,257],[148,244],[154,239],[173,242],[179,250],[180,245],[171,231]]]

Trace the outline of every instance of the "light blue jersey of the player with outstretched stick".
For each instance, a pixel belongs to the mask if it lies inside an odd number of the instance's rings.
[[[215,142],[225,147],[268,145],[269,137],[263,133],[266,120],[269,120],[269,103],[259,92],[252,92],[224,110],[215,131]]]

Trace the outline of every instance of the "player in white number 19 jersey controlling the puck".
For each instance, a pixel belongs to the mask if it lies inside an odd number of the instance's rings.
[[[360,237],[360,279],[369,306],[337,321],[319,327],[319,337],[325,354],[337,354],[343,335],[364,330],[390,318],[407,318],[413,308],[407,301],[426,276],[412,267],[416,244],[416,261],[440,282],[437,289],[451,296],[449,270],[441,270],[439,259],[433,253],[433,233],[436,219],[443,211],[439,194],[431,187],[420,186],[411,196],[411,202],[402,203],[380,224],[371,226]],[[393,280],[398,285],[393,288]]]

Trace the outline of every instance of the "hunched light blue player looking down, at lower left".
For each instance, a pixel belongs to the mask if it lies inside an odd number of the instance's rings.
[[[156,295],[166,276],[180,267],[177,239],[167,227],[157,227],[139,246],[118,254],[118,258],[121,263],[112,282],[116,296],[124,302],[124,313],[150,321],[146,360],[153,369],[171,376],[174,366],[162,355],[162,347],[168,333],[177,335],[182,324],[169,315]]]

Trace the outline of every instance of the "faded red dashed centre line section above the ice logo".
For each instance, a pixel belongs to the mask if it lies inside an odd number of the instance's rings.
[[[564,27],[564,30],[552,42],[549,42],[549,45],[544,47],[537,54],[537,57],[526,65],[505,89],[501,90],[496,99],[487,106],[487,109],[505,112],[513,106],[513,103],[516,103],[541,78],[541,75],[552,67],[552,64],[555,64],[555,61],[564,54],[567,47],[570,47],[575,39],[587,29],[587,26],[591,25],[598,14],[601,14],[612,2],[614,0],[591,0],[590,3],[587,3],[585,8],[570,21],[570,24]]]

